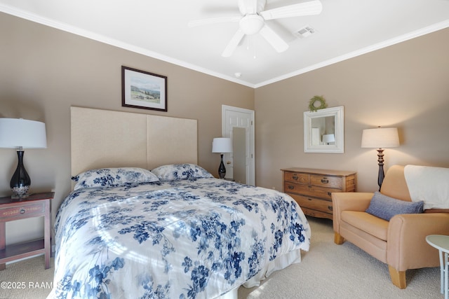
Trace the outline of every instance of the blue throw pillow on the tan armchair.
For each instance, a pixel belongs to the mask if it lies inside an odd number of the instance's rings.
[[[376,191],[366,212],[389,221],[396,214],[422,213],[424,202],[406,202]]]

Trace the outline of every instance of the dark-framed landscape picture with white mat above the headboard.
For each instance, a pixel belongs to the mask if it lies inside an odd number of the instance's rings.
[[[121,106],[167,111],[167,77],[121,67]]]

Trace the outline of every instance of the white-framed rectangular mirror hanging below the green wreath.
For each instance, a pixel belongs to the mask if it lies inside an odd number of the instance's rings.
[[[344,153],[343,106],[304,112],[304,153]]]

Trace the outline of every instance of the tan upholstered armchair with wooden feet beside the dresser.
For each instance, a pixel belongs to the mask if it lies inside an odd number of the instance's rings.
[[[380,194],[412,204],[403,166],[389,168]],[[422,214],[396,214],[387,221],[366,212],[373,195],[332,193],[334,242],[347,240],[387,263],[391,282],[406,288],[406,270],[439,266],[438,251],[425,238],[449,235],[449,213],[427,209]]]

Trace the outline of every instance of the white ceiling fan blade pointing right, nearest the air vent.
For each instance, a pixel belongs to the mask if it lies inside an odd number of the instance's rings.
[[[302,15],[319,15],[323,10],[321,1],[309,1],[300,4],[293,4],[282,6],[279,8],[269,9],[268,11],[261,11],[259,15],[264,20],[274,20],[281,18],[300,17]]]

